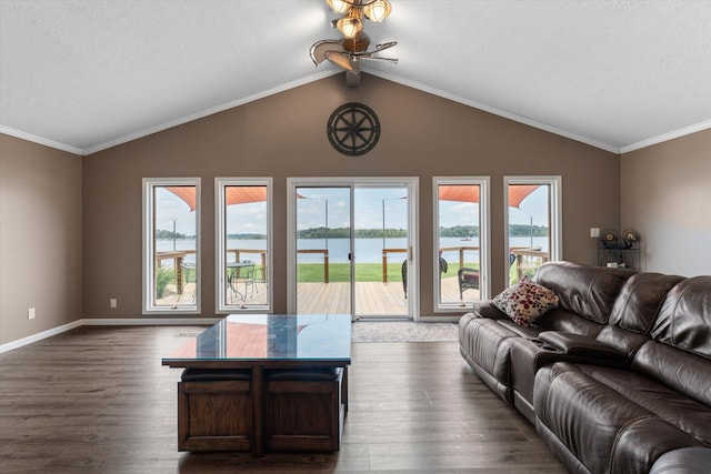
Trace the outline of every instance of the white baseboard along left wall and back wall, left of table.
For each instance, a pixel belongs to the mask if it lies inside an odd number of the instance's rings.
[[[0,354],[81,326],[209,326],[217,324],[220,320],[222,317],[82,319],[17,341],[0,344]]]

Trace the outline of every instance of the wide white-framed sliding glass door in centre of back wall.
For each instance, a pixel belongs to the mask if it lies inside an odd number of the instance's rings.
[[[415,179],[291,179],[290,311],[411,319]]]

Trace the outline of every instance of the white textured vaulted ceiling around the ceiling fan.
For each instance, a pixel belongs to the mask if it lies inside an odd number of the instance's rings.
[[[364,71],[624,152],[711,128],[709,0],[391,0]],[[338,73],[323,0],[0,0],[0,131],[91,153]],[[343,85],[346,87],[346,85]]]

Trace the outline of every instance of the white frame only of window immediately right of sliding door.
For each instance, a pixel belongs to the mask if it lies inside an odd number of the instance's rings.
[[[439,238],[440,238],[440,211],[439,211],[439,186],[453,185],[478,185],[479,186],[479,300],[488,300],[491,295],[491,225],[490,225],[490,177],[432,177],[432,288],[433,305],[438,313],[461,313],[462,307],[467,307],[467,302],[443,303],[441,301],[441,288],[439,281]]]

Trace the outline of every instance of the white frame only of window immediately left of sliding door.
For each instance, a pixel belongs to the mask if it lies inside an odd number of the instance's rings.
[[[228,186],[267,186],[267,303],[266,305],[237,305],[226,301],[227,241],[226,218],[227,203],[224,189]],[[272,313],[273,312],[273,179],[267,178],[216,178],[216,313]]]

